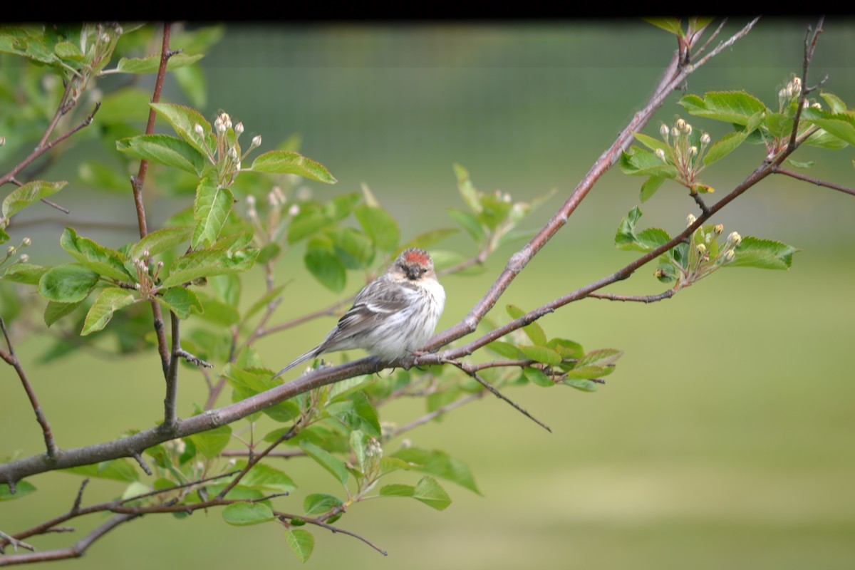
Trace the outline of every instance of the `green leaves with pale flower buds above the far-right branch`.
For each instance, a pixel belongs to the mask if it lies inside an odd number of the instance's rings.
[[[624,173],[647,177],[640,191],[640,200],[645,202],[666,179],[675,180],[693,194],[713,191],[710,185],[700,181],[699,174],[743,143],[764,144],[767,160],[774,161],[790,143],[797,116],[799,144],[825,149],[855,145],[855,116],[840,97],[823,92],[820,97],[828,109],[818,101],[807,99],[799,107],[800,93],[799,78],[790,79],[778,93],[777,111],[744,91],[711,91],[704,97],[682,97],[680,104],[689,114],[727,122],[734,131],[710,144],[709,134],[678,118],[673,126],[660,127],[662,140],[635,133],[636,140],[646,149],[633,146],[623,153],[621,169]],[[795,167],[811,166],[811,163],[789,162]]]

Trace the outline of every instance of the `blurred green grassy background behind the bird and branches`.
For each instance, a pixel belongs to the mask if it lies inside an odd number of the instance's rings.
[[[802,65],[811,20],[765,20],[694,73],[687,92],[746,90],[775,106],[777,91]],[[735,19],[724,35],[742,21]],[[811,83],[855,104],[855,22],[831,19],[820,38]],[[723,37],[723,36],[722,36]],[[461,207],[453,162],[484,191],[528,199],[557,193],[526,222],[539,228],[646,100],[675,41],[642,22],[230,25],[203,60],[213,116],[226,110],[266,148],[293,132],[302,152],[339,179],[318,196],[368,184],[399,220],[402,238],[451,226]],[[654,134],[682,108],[675,93],[647,127]],[[181,101],[168,85],[167,98]],[[682,114],[687,116],[686,114]],[[714,138],[727,129],[693,119]],[[715,165],[705,181],[723,196],[764,152],[752,147]],[[855,186],[852,149],[800,150],[813,174]],[[607,174],[561,232],[526,268],[499,306],[532,309],[613,272],[633,254],[615,250],[618,222],[638,203],[641,179]],[[130,197],[68,188],[73,220],[125,219]],[[65,203],[63,203],[65,204]],[[696,207],[665,185],[642,206],[642,226],[676,232]],[[171,209],[149,210],[153,224]],[[44,214],[42,214],[44,215]],[[467,461],[484,494],[446,485],[454,500],[438,513],[421,503],[359,504],[339,526],[387,549],[383,557],[352,538],[313,530],[314,567],[349,568],[851,568],[855,564],[855,199],[791,179],[767,179],[716,216],[725,232],[775,238],[802,249],[784,272],[722,270],[652,305],[586,300],[540,322],[551,336],[587,349],[625,351],[598,392],[509,390],[552,426],[548,434],[488,397],[410,432],[423,448]],[[63,220],[67,224],[68,220]],[[43,264],[62,259],[56,227],[36,244]],[[105,232],[108,244],[133,238]],[[466,239],[443,249],[471,254]],[[522,244],[500,250],[476,277],[444,280],[440,327],[469,310]],[[288,252],[299,267],[301,248]],[[38,261],[37,261],[38,262]],[[290,265],[293,264],[293,265]],[[610,291],[663,290],[643,267]],[[293,272],[276,322],[339,297]],[[358,288],[357,276],[347,293]],[[344,297],[344,295],[342,296]],[[494,315],[501,318],[501,310]],[[333,319],[259,344],[280,367],[320,340]],[[49,366],[33,362],[44,338],[16,348],[52,422],[57,442],[103,441],[157,420],[162,406],[154,352],[131,361],[85,353]],[[32,409],[9,368],[0,394],[0,455],[42,448]],[[203,400],[190,373],[183,415]],[[418,403],[385,412],[406,422]],[[396,444],[392,444],[394,449]],[[277,464],[298,482],[284,510],[310,492],[335,492],[333,479],[300,461]],[[309,466],[310,467],[310,466]],[[314,480],[314,478],[320,478]],[[327,480],[329,479],[329,480]],[[39,491],[0,506],[0,530],[15,532],[71,506],[79,479],[32,478]],[[121,494],[97,481],[88,502]],[[82,521],[80,532],[98,521]],[[90,525],[90,526],[87,526]],[[82,536],[82,535],[81,535]],[[58,547],[72,535],[39,544]],[[96,544],[84,562],[114,568],[293,567],[279,526],[227,526],[219,512],[186,520],[150,516]]]

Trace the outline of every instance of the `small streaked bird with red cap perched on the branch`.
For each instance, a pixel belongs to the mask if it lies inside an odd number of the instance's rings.
[[[336,350],[364,349],[381,361],[410,355],[428,342],[445,307],[445,289],[425,250],[410,248],[386,273],[359,291],[353,306],[321,344],[298,356],[274,378],[299,363]]]

